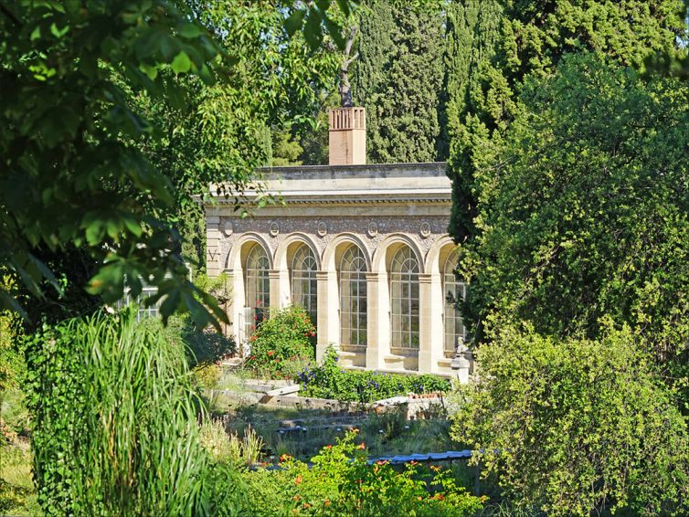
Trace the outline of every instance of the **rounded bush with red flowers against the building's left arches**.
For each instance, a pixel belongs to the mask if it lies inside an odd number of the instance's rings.
[[[313,359],[315,335],[313,323],[301,307],[273,312],[249,338],[251,352],[245,365],[256,375],[281,378],[291,362]]]

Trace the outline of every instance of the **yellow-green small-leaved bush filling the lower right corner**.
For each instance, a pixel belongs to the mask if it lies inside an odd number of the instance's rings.
[[[459,386],[453,437],[512,501],[554,515],[685,514],[689,435],[648,345],[610,320],[599,341],[496,322],[481,380]]]

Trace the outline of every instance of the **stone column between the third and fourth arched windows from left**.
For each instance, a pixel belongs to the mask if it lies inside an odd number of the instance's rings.
[[[366,368],[380,370],[390,353],[390,297],[387,273],[366,273],[368,294],[368,328]]]

